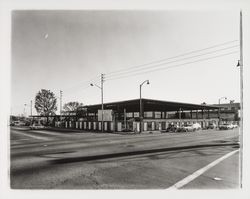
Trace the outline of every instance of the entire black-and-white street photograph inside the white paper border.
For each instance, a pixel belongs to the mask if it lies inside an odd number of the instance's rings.
[[[9,189],[241,190],[245,13],[12,9]]]

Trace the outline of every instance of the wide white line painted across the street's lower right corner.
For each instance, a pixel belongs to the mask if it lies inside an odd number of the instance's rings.
[[[197,170],[196,172],[187,176],[186,178],[182,179],[181,181],[175,183],[173,186],[169,187],[168,189],[179,189],[179,188],[185,186],[189,182],[193,181],[195,178],[197,178],[200,175],[202,175],[203,173],[205,173],[207,170],[211,169],[212,167],[219,164],[221,161],[225,160],[226,158],[232,156],[233,154],[237,153],[238,151],[239,151],[239,149],[222,156],[221,158],[219,158],[219,159],[213,161],[212,163],[208,164],[207,166]]]

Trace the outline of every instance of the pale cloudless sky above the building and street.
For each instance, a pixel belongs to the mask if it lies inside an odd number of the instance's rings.
[[[89,84],[100,86],[101,73],[104,103],[139,98],[147,79],[143,98],[239,102],[238,45],[237,10],[12,11],[11,113],[29,113],[40,89],[62,90],[63,103],[100,103]]]

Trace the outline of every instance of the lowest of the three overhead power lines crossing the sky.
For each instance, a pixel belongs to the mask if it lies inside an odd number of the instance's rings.
[[[198,60],[191,61],[191,62],[176,64],[176,65],[172,65],[172,66],[169,66],[169,67],[162,67],[162,68],[158,68],[158,69],[154,69],[154,70],[148,70],[148,71],[144,71],[144,72],[140,72],[140,73],[135,73],[135,74],[132,74],[132,75],[125,75],[125,76],[121,76],[121,77],[117,77],[117,78],[111,78],[111,79],[107,79],[107,81],[116,80],[116,79],[123,79],[123,78],[126,78],[126,77],[132,77],[132,76],[137,76],[137,75],[142,75],[142,74],[155,72],[155,71],[159,71],[159,70],[167,70],[167,69],[171,69],[171,68],[177,68],[177,67],[181,67],[183,65],[188,65],[188,64],[192,64],[192,63],[196,63],[196,62],[201,62],[201,61],[206,61],[206,60],[210,60],[210,59],[214,59],[214,58],[218,58],[218,57],[224,57],[224,56],[231,55],[231,54],[238,53],[238,52],[239,51],[234,51],[234,52],[221,54],[221,55],[217,55],[217,56],[213,56],[213,57],[198,59]]]

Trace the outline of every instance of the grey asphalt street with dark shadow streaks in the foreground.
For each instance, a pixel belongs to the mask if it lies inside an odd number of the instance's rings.
[[[166,189],[235,151],[180,189],[239,187],[238,129],[102,134],[11,128],[15,189]]]

